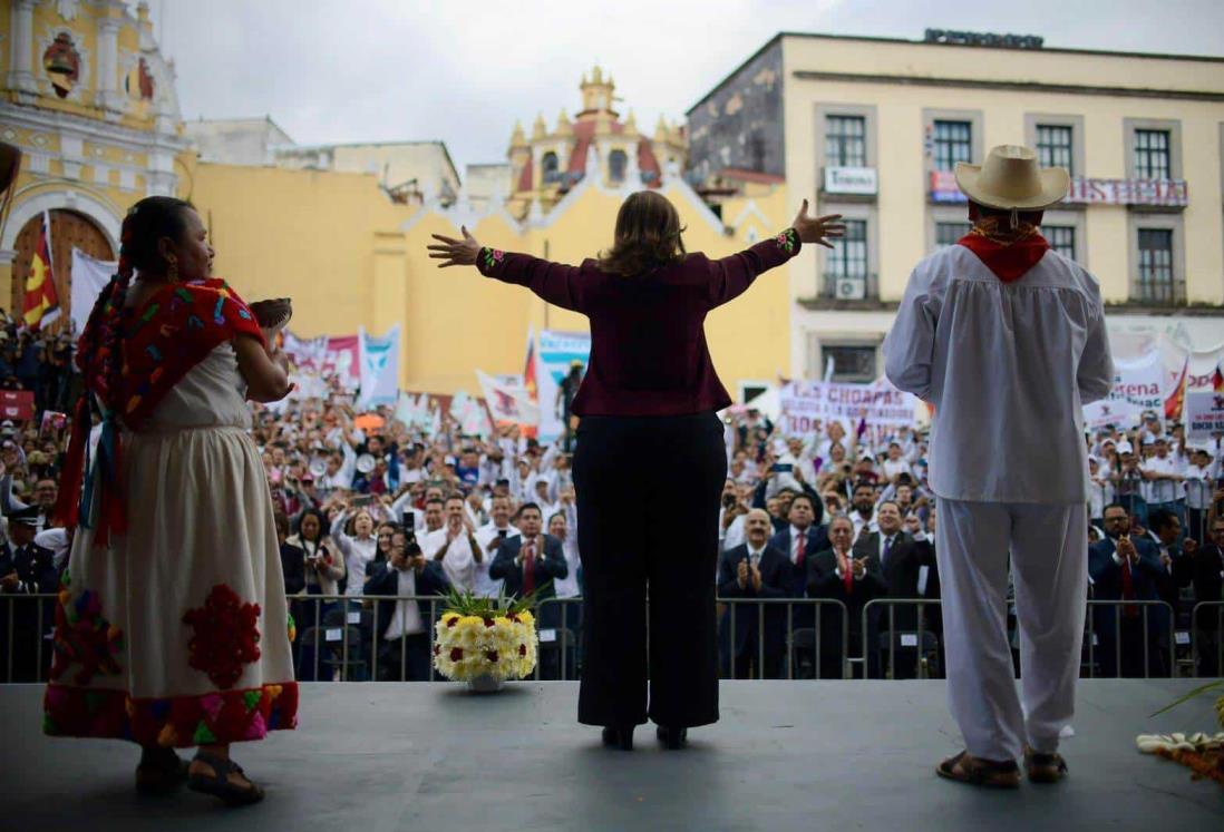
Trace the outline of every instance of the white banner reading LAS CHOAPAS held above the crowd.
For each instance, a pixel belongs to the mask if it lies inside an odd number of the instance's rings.
[[[781,392],[782,432],[798,436],[837,420],[847,431],[865,420],[868,427],[912,427],[917,399],[892,387],[886,378],[873,384],[789,382]]]

